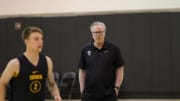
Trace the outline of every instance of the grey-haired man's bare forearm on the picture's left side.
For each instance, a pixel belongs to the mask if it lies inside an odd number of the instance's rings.
[[[80,84],[80,92],[83,93],[85,87],[85,78],[86,78],[86,70],[79,69],[79,84]]]

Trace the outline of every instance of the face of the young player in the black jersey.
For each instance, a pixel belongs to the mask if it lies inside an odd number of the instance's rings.
[[[26,47],[31,51],[41,52],[43,48],[43,36],[39,32],[32,32],[25,40]]]

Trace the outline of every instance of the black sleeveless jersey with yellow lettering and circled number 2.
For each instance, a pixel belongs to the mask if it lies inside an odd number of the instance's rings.
[[[47,61],[39,55],[37,66],[34,66],[24,55],[18,57],[20,70],[17,77],[11,79],[9,101],[45,101],[45,84],[47,79]]]

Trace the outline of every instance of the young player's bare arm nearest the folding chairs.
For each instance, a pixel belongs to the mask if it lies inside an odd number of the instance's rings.
[[[48,87],[51,95],[54,97],[55,101],[62,101],[58,86],[54,80],[52,60],[49,57],[46,57],[46,59],[47,59],[47,63],[48,63],[47,87]]]

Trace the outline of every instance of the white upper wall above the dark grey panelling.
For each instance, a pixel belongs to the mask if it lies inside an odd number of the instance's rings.
[[[180,11],[180,0],[0,0],[0,17]]]

